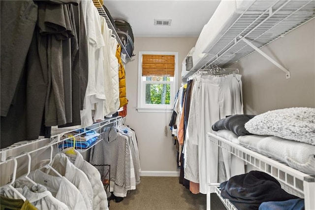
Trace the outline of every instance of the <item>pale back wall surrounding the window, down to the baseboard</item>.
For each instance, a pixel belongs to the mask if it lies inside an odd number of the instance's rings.
[[[179,52],[179,70],[197,37],[135,37],[133,61],[126,64],[127,105],[126,125],[136,131],[140,152],[142,175],[177,175],[176,150],[169,130],[171,113],[138,112],[138,52],[171,51]],[[181,72],[178,72],[181,75]],[[179,77],[179,85],[181,77]],[[164,128],[167,126],[168,135]]]

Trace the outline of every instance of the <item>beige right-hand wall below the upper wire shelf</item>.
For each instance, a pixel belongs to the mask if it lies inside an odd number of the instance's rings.
[[[288,107],[315,107],[315,20],[262,48],[290,71],[284,71],[255,52],[231,67],[243,82],[244,112],[260,114]]]

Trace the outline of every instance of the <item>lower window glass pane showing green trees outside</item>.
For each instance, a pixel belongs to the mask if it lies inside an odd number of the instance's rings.
[[[146,84],[146,104],[169,105],[170,84]]]

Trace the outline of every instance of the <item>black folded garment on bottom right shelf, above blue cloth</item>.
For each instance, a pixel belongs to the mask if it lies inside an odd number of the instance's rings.
[[[258,210],[262,202],[297,199],[281,188],[277,179],[264,172],[236,175],[220,184],[221,196],[239,210]]]

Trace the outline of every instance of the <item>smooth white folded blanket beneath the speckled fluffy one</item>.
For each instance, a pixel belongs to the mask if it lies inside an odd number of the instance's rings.
[[[315,175],[315,146],[280,137],[241,136],[240,144],[260,154],[274,157],[290,167]]]

